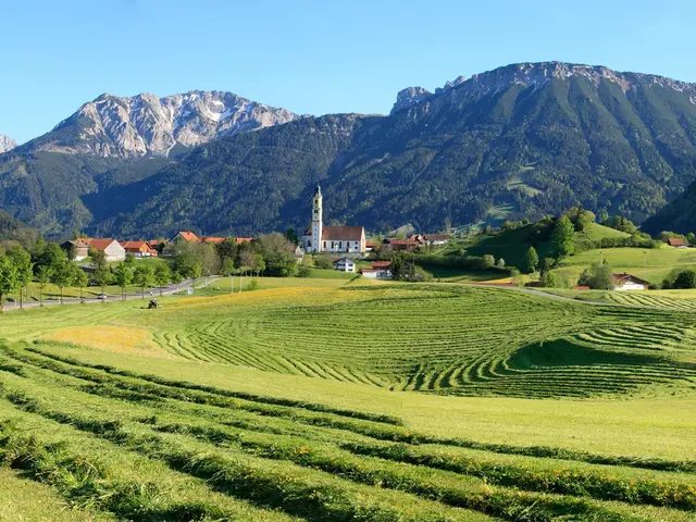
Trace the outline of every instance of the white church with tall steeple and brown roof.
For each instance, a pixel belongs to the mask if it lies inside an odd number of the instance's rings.
[[[306,252],[364,253],[365,229],[362,226],[324,226],[322,188],[316,184],[312,197],[312,224],[302,236]]]

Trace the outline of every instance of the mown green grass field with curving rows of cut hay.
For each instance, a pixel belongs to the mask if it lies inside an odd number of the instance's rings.
[[[47,521],[696,517],[687,307],[327,281],[0,316],[0,502],[36,495],[16,510]]]

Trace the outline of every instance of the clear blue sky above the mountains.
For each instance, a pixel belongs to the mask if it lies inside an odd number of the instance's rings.
[[[694,20],[692,0],[0,0],[0,133],[26,141],[102,92],[386,113],[403,87],[515,62],[696,82]]]

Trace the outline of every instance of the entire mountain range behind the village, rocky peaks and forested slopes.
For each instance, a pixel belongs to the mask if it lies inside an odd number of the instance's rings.
[[[52,235],[246,235],[303,228],[321,182],[327,222],[434,232],[579,203],[642,223],[694,181],[696,85],[545,62],[403,89],[388,115],[102,95],[0,156],[0,207]]]

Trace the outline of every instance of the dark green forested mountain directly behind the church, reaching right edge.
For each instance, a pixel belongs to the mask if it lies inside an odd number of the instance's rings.
[[[577,203],[642,222],[696,179],[691,84],[542,63],[413,92],[389,116],[303,119],[208,144],[138,185],[141,202],[97,228],[302,227],[316,181],[328,220],[374,231],[500,211],[535,219]]]

